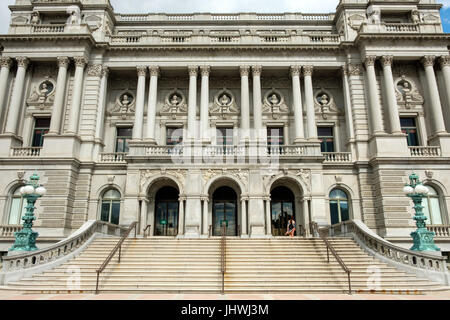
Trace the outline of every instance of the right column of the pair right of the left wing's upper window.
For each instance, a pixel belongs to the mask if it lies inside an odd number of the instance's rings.
[[[85,57],[75,57],[75,78],[73,81],[72,105],[70,107],[69,126],[67,133],[77,134],[80,121],[81,96],[83,94],[84,67],[87,60]]]

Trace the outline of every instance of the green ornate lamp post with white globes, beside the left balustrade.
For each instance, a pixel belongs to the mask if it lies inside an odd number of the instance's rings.
[[[31,227],[33,226],[33,221],[36,220],[34,216],[34,204],[36,200],[40,197],[44,196],[47,190],[38,183],[39,176],[34,173],[30,177],[30,181],[27,182],[26,186],[20,188],[20,193],[22,197],[27,199],[27,207],[26,213],[22,217],[23,229],[16,232],[14,235],[16,237],[16,242],[9,249],[9,251],[35,251],[38,248],[36,247],[36,238],[38,237],[38,233],[34,232]]]

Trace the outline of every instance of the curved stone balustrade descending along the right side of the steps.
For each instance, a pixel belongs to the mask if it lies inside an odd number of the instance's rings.
[[[412,251],[393,245],[382,238],[369,234],[354,221],[345,221],[323,228],[329,235],[346,236],[353,234],[364,246],[375,253],[396,263],[419,269],[446,272],[445,257],[426,254],[420,251]]]

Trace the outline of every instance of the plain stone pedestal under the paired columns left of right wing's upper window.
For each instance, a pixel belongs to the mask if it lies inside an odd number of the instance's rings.
[[[406,135],[376,134],[369,139],[369,157],[409,157]]]

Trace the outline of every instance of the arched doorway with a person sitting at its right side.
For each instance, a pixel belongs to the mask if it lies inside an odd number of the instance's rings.
[[[284,236],[287,230],[287,223],[291,216],[295,219],[295,196],[292,191],[284,186],[276,187],[270,193],[271,197],[271,217],[272,235]],[[297,230],[298,224],[297,222]],[[297,233],[298,231],[296,231]]]

